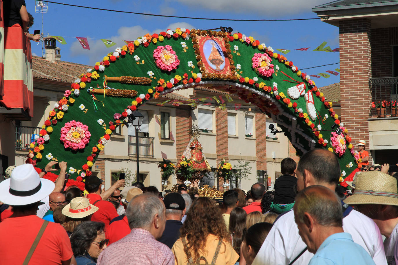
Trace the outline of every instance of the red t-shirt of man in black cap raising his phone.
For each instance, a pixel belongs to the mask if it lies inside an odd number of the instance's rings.
[[[87,195],[91,204],[98,201],[95,206],[98,207],[98,211],[93,213],[91,221],[103,222],[105,224],[105,231],[109,226],[109,222],[115,217],[118,217],[117,211],[110,201],[103,201],[101,196],[95,193],[90,193]]]

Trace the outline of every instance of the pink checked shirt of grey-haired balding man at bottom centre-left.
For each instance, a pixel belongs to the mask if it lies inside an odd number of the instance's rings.
[[[174,265],[170,248],[150,232],[133,228],[130,234],[109,245],[98,257],[98,265]]]

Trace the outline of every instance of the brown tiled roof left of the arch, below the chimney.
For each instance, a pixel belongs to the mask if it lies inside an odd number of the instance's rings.
[[[72,62],[55,61],[43,59],[39,56],[32,56],[33,77],[73,83],[82,73],[92,66],[75,64]]]

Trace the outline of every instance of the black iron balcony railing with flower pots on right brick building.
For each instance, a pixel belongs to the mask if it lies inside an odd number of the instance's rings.
[[[378,77],[369,79],[372,101],[398,102],[398,77]],[[386,116],[390,116],[391,108],[386,107]],[[371,109],[371,115],[376,115],[376,109]]]

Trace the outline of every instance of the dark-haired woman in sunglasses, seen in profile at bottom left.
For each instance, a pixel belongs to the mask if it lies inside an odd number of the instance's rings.
[[[109,240],[103,231],[102,222],[82,222],[70,236],[72,251],[77,265],[95,265],[100,253],[107,247]]]

